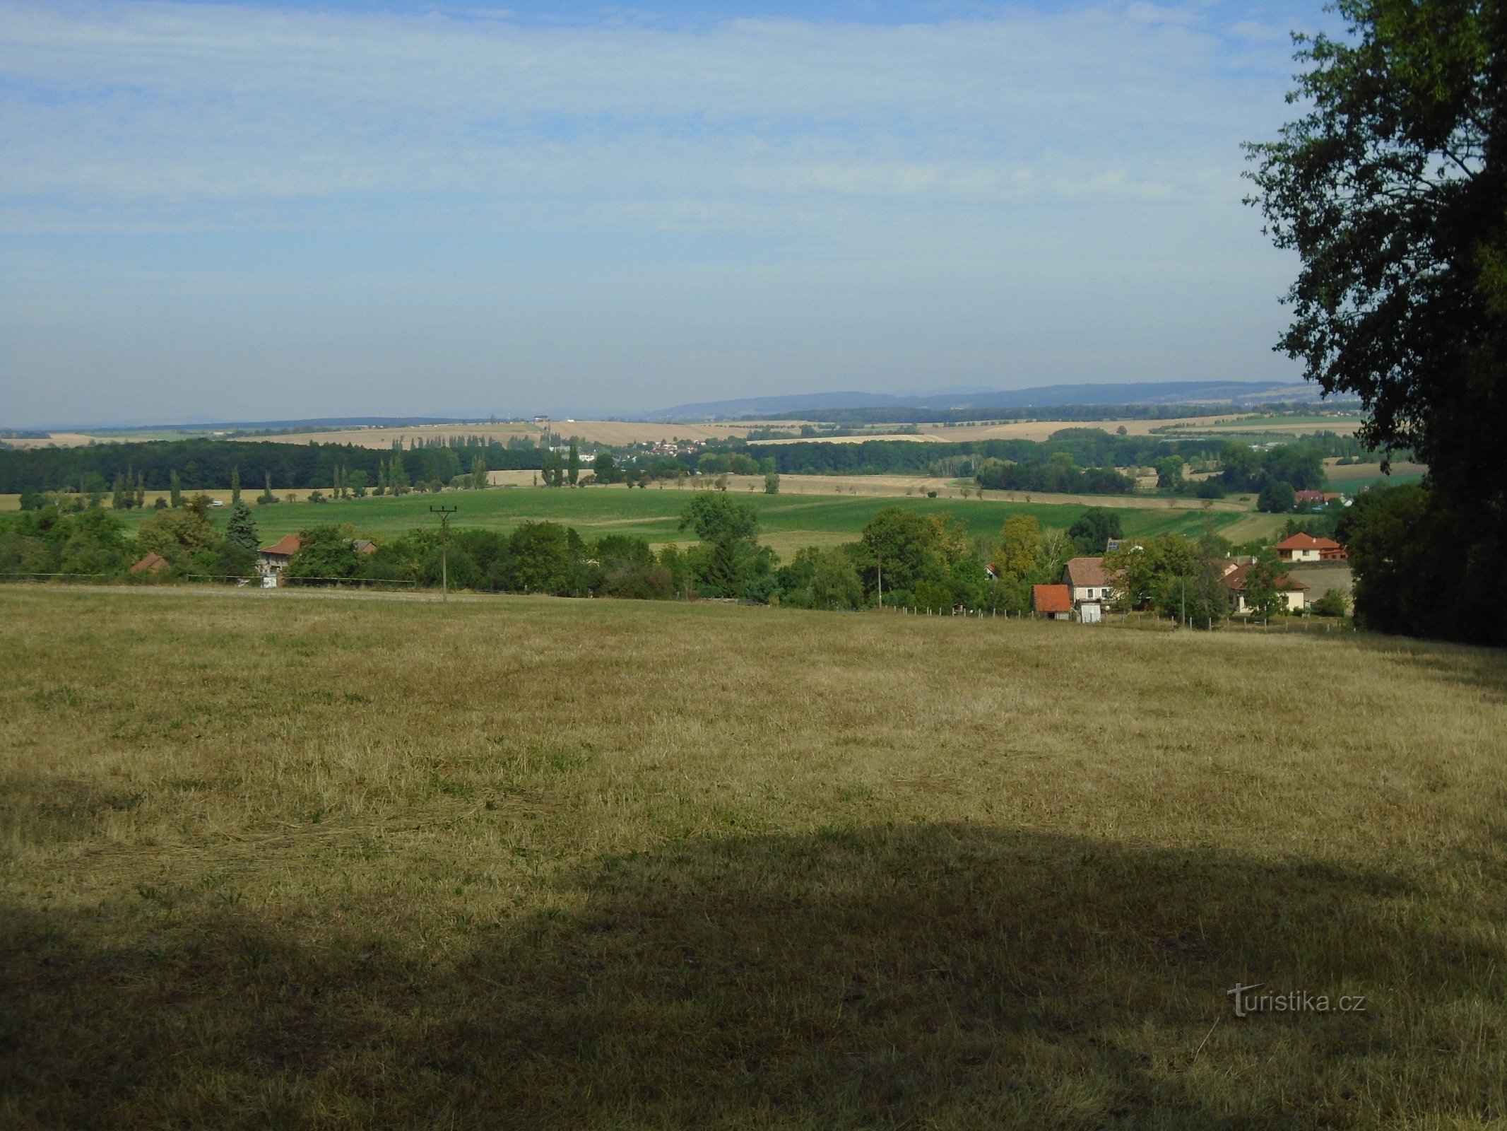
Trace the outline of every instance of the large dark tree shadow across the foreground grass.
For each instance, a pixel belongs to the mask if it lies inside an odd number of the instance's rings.
[[[1492,1065],[1429,1057],[1502,955],[1420,899],[1204,849],[859,825],[598,860],[529,914],[443,912],[460,958],[312,949],[238,906],[105,946],[102,920],[12,906],[0,1122],[1296,1128],[1453,1111],[1462,1086],[1480,1114]],[[1368,1004],[1242,1021],[1237,980]]]

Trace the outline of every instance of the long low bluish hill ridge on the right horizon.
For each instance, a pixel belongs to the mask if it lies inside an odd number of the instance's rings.
[[[744,397],[731,401],[677,404],[647,413],[647,419],[707,416],[799,416],[833,409],[1029,409],[1068,404],[1264,404],[1317,401],[1319,386],[1308,382],[1144,382],[1133,385],[1043,385],[1034,389],[955,391],[891,397],[876,392],[812,392],[793,397]]]

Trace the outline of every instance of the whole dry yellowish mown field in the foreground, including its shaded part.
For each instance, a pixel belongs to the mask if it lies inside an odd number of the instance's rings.
[[[1507,664],[0,588],[5,1126],[1507,1119]],[[1225,988],[1364,995],[1236,1018]]]

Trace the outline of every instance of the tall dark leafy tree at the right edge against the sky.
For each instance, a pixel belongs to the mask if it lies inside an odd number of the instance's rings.
[[[1279,350],[1326,394],[1361,398],[1359,439],[1429,464],[1352,556],[1356,614],[1400,630],[1507,641],[1475,594],[1507,556],[1507,9],[1501,0],[1338,0],[1343,38],[1299,38],[1305,106],[1248,146],[1252,202],[1296,250]],[[1421,605],[1388,534],[1429,526],[1453,584]],[[1377,572],[1367,576],[1367,570]],[[1397,587],[1392,593],[1383,593]],[[1411,627],[1403,627],[1411,626]]]

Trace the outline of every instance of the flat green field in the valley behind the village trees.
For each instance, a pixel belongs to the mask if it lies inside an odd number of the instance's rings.
[[[368,498],[345,502],[288,504],[253,507],[264,541],[292,534],[315,523],[350,523],[357,534],[381,540],[428,526],[436,522],[429,507],[460,507],[451,520],[454,526],[490,526],[511,529],[526,520],[549,520],[574,526],[582,537],[601,534],[634,534],[654,543],[695,541],[689,531],[677,528],[680,513],[690,501],[692,490],[622,490],[585,489],[549,490],[532,487],[494,489],[445,495],[405,495],[398,498]],[[247,492],[250,498],[250,492]],[[1034,514],[1043,526],[1071,526],[1087,510],[1076,505],[1040,505],[1025,502],[995,502],[978,499],[924,499],[874,496],[811,496],[737,493],[738,499],[760,508],[760,537],[781,555],[788,556],[800,546],[826,544],[856,538],[864,525],[885,507],[901,507],[922,514],[951,514],[977,537],[998,534],[1011,514]],[[1105,505],[1114,508],[1114,499]],[[151,511],[145,511],[151,514]],[[220,511],[223,516],[223,511]],[[1200,511],[1163,508],[1120,510],[1124,531],[1133,537],[1154,534],[1189,534],[1203,531],[1207,519],[1216,531],[1239,525],[1242,537],[1251,514],[1237,511]],[[140,522],[143,513],[127,511],[128,522]],[[1264,516],[1261,516],[1264,519]],[[223,517],[222,517],[223,522]]]

